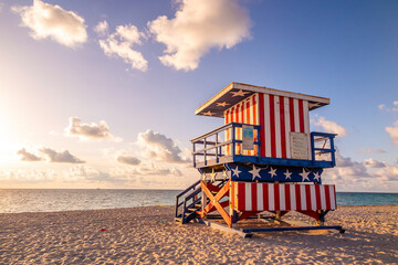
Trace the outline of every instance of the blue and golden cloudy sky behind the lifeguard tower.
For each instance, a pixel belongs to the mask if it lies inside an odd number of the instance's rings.
[[[398,2],[0,0],[0,188],[184,189],[231,82],[331,98],[337,191],[398,192]]]

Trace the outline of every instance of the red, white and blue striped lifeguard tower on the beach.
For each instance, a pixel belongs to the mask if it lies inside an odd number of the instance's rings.
[[[270,212],[281,220],[296,211],[316,226],[245,229],[261,231],[337,229],[325,226],[336,210],[336,191],[322,184],[324,168],[335,166],[335,134],[310,131],[310,112],[328,98],[231,83],[196,109],[224,125],[191,140],[200,180],[176,197],[176,221],[207,222],[211,212],[229,227]]]

